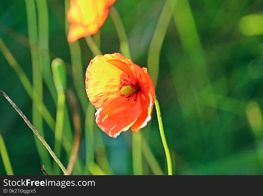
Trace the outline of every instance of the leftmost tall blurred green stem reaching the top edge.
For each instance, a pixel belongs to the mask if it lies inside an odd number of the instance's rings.
[[[37,22],[36,22],[36,9],[35,2],[26,0],[26,12],[27,12],[27,27],[28,38],[30,45],[31,61],[32,61],[32,74],[33,74],[33,106],[32,106],[32,121],[40,134],[44,137],[43,131],[43,119],[42,115],[38,111],[38,106],[35,100],[42,102],[43,100],[43,82],[41,75],[41,68],[39,62],[38,52],[38,34],[37,34]],[[51,162],[49,155],[39,140],[35,137],[36,148],[41,159],[42,165],[45,165],[47,171],[51,171]]]

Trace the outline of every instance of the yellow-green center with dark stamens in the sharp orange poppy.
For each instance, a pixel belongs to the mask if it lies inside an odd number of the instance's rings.
[[[137,95],[140,91],[139,84],[134,83],[129,76],[128,78],[128,80],[123,79],[123,82],[120,82],[120,96],[127,98],[128,101],[132,98],[134,98],[134,101],[137,101]]]

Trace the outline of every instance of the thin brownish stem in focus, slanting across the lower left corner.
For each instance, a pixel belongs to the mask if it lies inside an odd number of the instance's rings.
[[[39,134],[39,132],[35,129],[35,127],[30,123],[30,121],[27,119],[27,117],[23,114],[23,112],[16,106],[16,104],[5,94],[2,89],[0,89],[0,92],[3,94],[3,96],[9,101],[9,103],[16,109],[16,111],[19,113],[19,115],[24,119],[26,124],[30,127],[30,129],[33,131],[33,133],[39,138],[39,140],[43,143],[43,145],[46,147],[48,152],[51,154],[53,159],[56,161],[56,163],[59,165],[59,167],[62,169],[65,175],[68,175],[67,170],[63,166],[63,164],[60,162],[60,160],[56,157],[55,153],[52,151],[48,143],[44,140],[44,138]]]

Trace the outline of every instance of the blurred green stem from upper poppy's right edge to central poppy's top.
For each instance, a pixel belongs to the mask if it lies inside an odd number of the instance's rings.
[[[114,6],[110,7],[109,12],[111,19],[114,23],[114,26],[117,31],[117,35],[120,40],[120,51],[126,58],[131,58],[130,49],[129,49],[129,42],[125,33],[125,29],[123,27],[122,21],[120,19],[120,15],[117,12],[116,8]]]

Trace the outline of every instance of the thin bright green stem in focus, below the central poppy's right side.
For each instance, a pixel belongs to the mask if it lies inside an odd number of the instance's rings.
[[[171,155],[170,155],[169,148],[167,146],[166,138],[165,138],[165,135],[164,135],[163,122],[162,122],[162,117],[161,117],[160,106],[159,106],[159,102],[158,102],[156,96],[155,96],[155,102],[154,103],[155,103],[155,108],[156,108],[156,112],[157,112],[158,124],[159,124],[159,129],[160,129],[160,135],[161,135],[161,138],[162,138],[163,147],[164,147],[166,160],[167,160],[168,175],[172,175]]]

